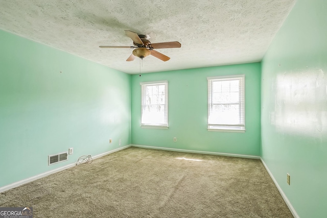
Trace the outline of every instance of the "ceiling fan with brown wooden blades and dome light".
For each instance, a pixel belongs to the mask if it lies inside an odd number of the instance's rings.
[[[181,44],[177,41],[174,42],[159,42],[159,43],[151,43],[145,35],[137,35],[129,30],[125,30],[126,35],[133,40],[134,46],[104,46],[101,45],[104,49],[115,49],[115,48],[126,48],[126,49],[134,49],[131,56],[127,58],[126,61],[133,61],[135,57],[145,58],[149,55],[152,55],[162,61],[168,61],[170,57],[167,57],[164,54],[161,54],[154,49],[170,49],[174,47],[181,47]]]

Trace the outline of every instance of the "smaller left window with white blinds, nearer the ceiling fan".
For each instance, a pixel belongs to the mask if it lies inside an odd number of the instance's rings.
[[[145,128],[168,128],[168,82],[141,83],[142,116]]]

